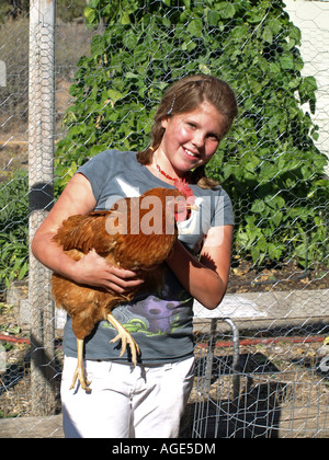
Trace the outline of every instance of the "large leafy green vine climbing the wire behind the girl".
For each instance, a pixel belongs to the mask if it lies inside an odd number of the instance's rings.
[[[313,141],[317,84],[300,74],[300,32],[284,3],[91,0],[86,16],[106,30],[78,62],[58,176],[110,147],[145,148],[167,85],[212,73],[230,83],[239,101],[238,119],[207,166],[235,205],[235,251],[258,265],[265,258],[324,262],[329,187],[327,159]]]

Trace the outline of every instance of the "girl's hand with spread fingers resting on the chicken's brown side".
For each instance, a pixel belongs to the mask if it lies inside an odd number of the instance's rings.
[[[71,279],[79,284],[105,288],[110,292],[124,294],[144,283],[138,275],[138,272],[107,264],[104,257],[92,250],[76,262]]]

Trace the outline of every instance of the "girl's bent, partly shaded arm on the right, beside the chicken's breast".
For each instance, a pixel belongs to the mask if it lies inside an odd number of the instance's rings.
[[[167,260],[182,286],[209,310],[216,308],[227,288],[232,226],[212,227],[197,261],[179,241]]]

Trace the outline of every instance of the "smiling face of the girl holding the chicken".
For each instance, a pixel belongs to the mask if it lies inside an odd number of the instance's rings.
[[[224,116],[208,102],[192,112],[168,116],[161,125],[166,130],[159,153],[164,153],[178,175],[209,161],[226,127]]]

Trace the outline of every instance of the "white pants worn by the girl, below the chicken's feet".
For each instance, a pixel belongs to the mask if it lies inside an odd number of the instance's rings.
[[[194,358],[162,366],[86,360],[91,392],[69,390],[76,358],[61,378],[67,438],[174,438],[192,390]]]

